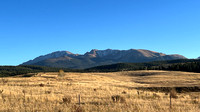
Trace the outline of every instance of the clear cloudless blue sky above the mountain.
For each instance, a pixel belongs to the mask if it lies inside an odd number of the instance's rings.
[[[200,0],[0,0],[0,65],[54,51],[200,56]]]

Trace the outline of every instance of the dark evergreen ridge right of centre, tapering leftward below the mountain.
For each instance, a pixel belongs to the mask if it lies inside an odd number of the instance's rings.
[[[170,70],[200,73],[200,60],[180,59],[155,61],[149,63],[118,63],[85,69],[85,71],[90,72],[115,72],[131,70]]]

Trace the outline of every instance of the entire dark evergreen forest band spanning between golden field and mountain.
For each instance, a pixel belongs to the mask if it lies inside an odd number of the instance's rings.
[[[200,60],[195,59],[180,59],[169,61],[155,61],[148,63],[118,63],[112,65],[97,66],[88,69],[66,69],[53,68],[44,66],[0,66],[0,77],[26,75],[28,73],[38,72],[118,72],[118,71],[133,71],[133,70],[170,70],[170,71],[186,71],[200,73]]]

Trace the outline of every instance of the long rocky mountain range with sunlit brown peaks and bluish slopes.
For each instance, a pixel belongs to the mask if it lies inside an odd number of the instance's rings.
[[[166,55],[149,50],[97,50],[93,49],[84,55],[73,54],[68,51],[57,51],[39,56],[22,65],[41,65],[61,68],[89,68],[99,65],[115,63],[140,63],[150,61],[186,59],[181,55]]]

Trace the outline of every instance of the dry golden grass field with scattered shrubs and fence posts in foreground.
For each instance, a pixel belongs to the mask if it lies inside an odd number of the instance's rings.
[[[0,79],[0,111],[200,112],[199,86],[189,72],[38,73]]]

